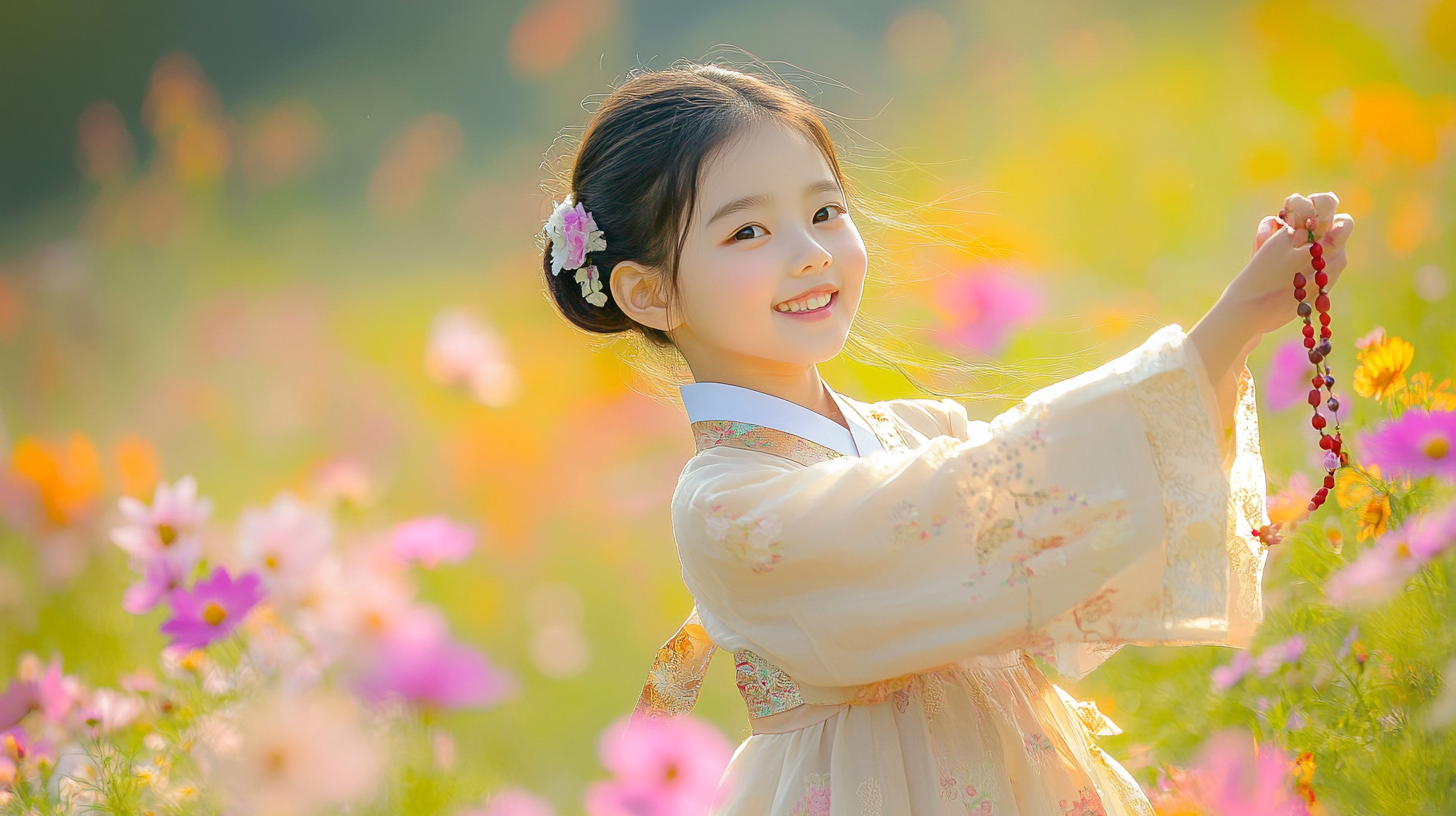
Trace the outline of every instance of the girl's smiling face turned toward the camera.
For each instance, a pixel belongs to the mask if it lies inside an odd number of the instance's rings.
[[[754,125],[705,163],[670,334],[699,380],[801,374],[843,348],[866,267],[818,147]]]

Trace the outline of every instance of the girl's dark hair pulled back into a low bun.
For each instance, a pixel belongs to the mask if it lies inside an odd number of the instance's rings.
[[[591,213],[607,242],[587,258],[601,275],[607,303],[587,303],[572,272],[552,274],[547,239],[542,270],[556,309],[588,332],[636,331],[655,345],[671,345],[667,332],[638,323],[617,306],[607,286],[612,270],[620,261],[662,270],[668,291],[676,291],[703,160],[745,125],[766,121],[812,140],[849,194],[818,109],[778,77],[766,80],[711,63],[628,74],[587,124],[569,189],[563,191]]]

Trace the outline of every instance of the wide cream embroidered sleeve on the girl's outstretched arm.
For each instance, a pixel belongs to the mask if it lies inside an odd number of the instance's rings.
[[[946,436],[904,452],[689,462],[673,526],[718,646],[840,688],[1012,648],[1077,676],[1123,644],[1248,644],[1265,516],[1246,369],[1232,428],[1176,325],[989,423],[943,411]]]

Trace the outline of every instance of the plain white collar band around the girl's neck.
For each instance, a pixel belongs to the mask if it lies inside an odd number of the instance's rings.
[[[761,391],[727,383],[687,383],[678,388],[683,395],[683,407],[687,408],[689,423],[729,421],[763,425],[776,431],[794,434],[812,443],[823,444],[843,456],[869,456],[884,450],[879,437],[869,428],[859,411],[843,396],[828,389],[839,411],[849,423],[849,430],[834,420],[810,411],[808,408],[789,402],[780,396],[772,396]]]

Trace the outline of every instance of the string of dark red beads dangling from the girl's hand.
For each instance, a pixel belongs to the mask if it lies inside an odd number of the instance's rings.
[[[1280,210],[1278,219],[1286,226],[1290,226],[1286,219],[1289,217],[1289,210]],[[1319,510],[1319,507],[1329,497],[1329,491],[1335,488],[1335,471],[1342,465],[1348,465],[1348,455],[1342,450],[1342,440],[1340,437],[1340,399],[1335,398],[1335,377],[1329,370],[1329,353],[1334,347],[1329,342],[1329,294],[1325,291],[1325,286],[1329,283],[1329,274],[1325,272],[1325,248],[1315,240],[1315,219],[1307,219],[1305,221],[1305,233],[1309,236],[1309,265],[1315,270],[1315,286],[1319,287],[1315,293],[1315,305],[1310,307],[1305,297],[1309,296],[1306,291],[1306,284],[1309,278],[1303,272],[1294,272],[1294,300],[1299,303],[1297,313],[1302,321],[1305,321],[1305,350],[1309,351],[1309,361],[1315,366],[1315,376],[1310,377],[1309,385],[1309,407],[1313,408],[1315,415],[1310,417],[1309,424],[1319,431],[1319,447],[1325,452],[1325,484],[1315,491],[1315,495],[1309,498],[1309,513]],[[1315,323],[1310,316],[1319,312],[1319,340],[1315,340]],[[1322,395],[1319,389],[1324,388]],[[1328,396],[1326,396],[1328,395]],[[1319,412],[1319,404],[1324,402],[1329,408],[1331,415],[1335,418],[1334,433],[1325,433],[1325,425],[1329,423]],[[1307,514],[1306,514],[1307,517]],[[1267,545],[1278,544],[1280,525],[1264,525],[1254,532],[1254,536]]]

